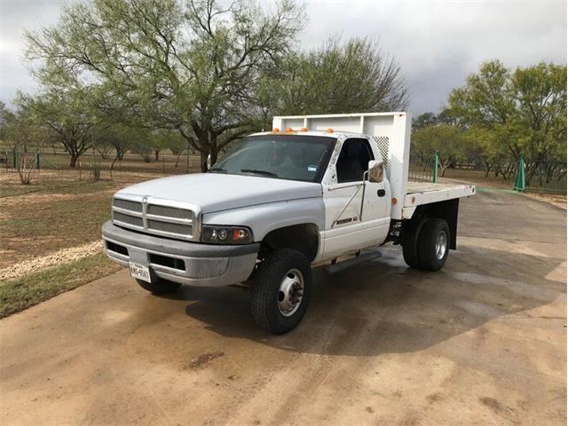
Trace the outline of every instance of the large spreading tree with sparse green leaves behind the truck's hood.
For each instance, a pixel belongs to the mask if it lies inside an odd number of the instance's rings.
[[[100,110],[137,126],[177,130],[201,166],[250,130],[256,81],[283,59],[304,11],[280,0],[98,0],[67,6],[57,25],[28,33],[43,83],[91,84]]]

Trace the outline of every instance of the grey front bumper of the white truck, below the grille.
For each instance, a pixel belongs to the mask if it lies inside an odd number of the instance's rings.
[[[114,262],[148,265],[158,278],[192,286],[221,287],[248,279],[256,264],[259,243],[221,246],[127,231],[106,222],[105,252]]]

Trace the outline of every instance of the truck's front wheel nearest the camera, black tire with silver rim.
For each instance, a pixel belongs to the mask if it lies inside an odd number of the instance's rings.
[[[252,290],[252,316],[274,335],[294,329],[310,303],[312,269],[297,250],[272,252],[258,267]]]

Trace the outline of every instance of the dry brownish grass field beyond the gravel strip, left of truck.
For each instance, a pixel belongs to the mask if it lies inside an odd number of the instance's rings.
[[[0,198],[0,268],[99,240],[100,225],[110,218],[111,198],[120,187],[67,180],[1,186],[11,195]]]

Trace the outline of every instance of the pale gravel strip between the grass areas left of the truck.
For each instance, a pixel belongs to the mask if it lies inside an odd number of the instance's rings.
[[[83,257],[92,256],[103,249],[102,241],[92,241],[83,246],[72,248],[63,248],[59,251],[47,256],[34,257],[27,259],[7,268],[0,269],[0,281],[11,280],[32,272],[42,271],[43,269],[57,266],[58,264],[67,264],[75,260],[83,259]]]

